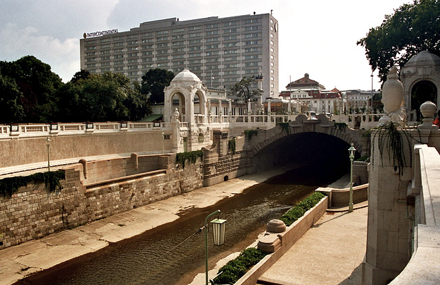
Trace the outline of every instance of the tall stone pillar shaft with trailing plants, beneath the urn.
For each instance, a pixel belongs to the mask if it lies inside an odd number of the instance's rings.
[[[376,130],[375,132],[384,131]],[[405,134],[401,131],[401,135]],[[383,139],[388,139],[386,135]],[[403,152],[408,167],[393,164],[387,150],[380,155],[379,137],[371,134],[374,150],[369,169],[369,214],[366,256],[362,264],[362,284],[388,284],[410,260],[410,220],[406,218],[406,194],[411,180],[409,152],[404,138]],[[387,144],[385,142],[385,144]]]

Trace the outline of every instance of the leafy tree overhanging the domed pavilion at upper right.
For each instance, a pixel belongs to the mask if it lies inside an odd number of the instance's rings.
[[[365,48],[373,71],[384,82],[393,67],[403,67],[415,54],[428,50],[440,56],[440,0],[415,0],[386,15],[382,25],[372,27],[358,45]]]

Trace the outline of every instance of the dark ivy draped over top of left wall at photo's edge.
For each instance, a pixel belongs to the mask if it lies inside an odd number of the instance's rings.
[[[20,187],[28,185],[31,181],[44,181],[46,187],[49,186],[49,190],[54,192],[63,179],[65,179],[63,171],[39,172],[28,176],[7,177],[0,180],[0,194],[11,196]]]

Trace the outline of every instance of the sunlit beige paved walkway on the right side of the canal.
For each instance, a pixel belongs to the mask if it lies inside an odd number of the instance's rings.
[[[368,207],[327,212],[257,284],[362,284]]]

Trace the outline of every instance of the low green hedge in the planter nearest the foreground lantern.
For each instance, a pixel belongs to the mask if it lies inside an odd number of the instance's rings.
[[[215,284],[234,284],[255,264],[265,257],[266,253],[251,247],[241,251],[234,260],[230,260],[221,269],[219,276],[214,278]]]

